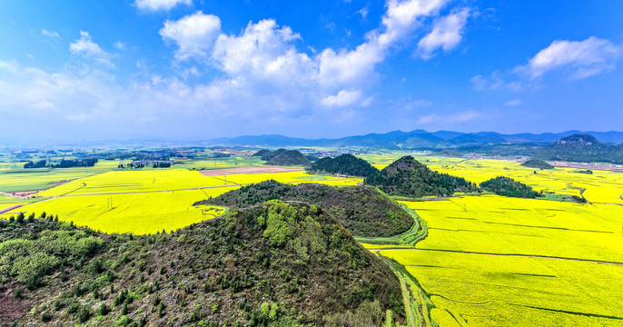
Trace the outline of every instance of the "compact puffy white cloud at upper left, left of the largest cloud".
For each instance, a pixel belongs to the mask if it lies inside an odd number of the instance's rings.
[[[203,57],[213,46],[214,40],[221,32],[221,19],[215,15],[204,15],[198,11],[186,15],[178,21],[164,22],[160,35],[164,41],[172,41],[178,45],[175,58],[186,60],[191,57]]]

